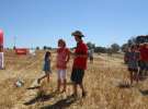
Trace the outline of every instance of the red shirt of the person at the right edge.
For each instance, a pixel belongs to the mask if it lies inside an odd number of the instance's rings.
[[[139,51],[140,51],[140,60],[148,61],[148,48],[144,45],[140,47]]]

